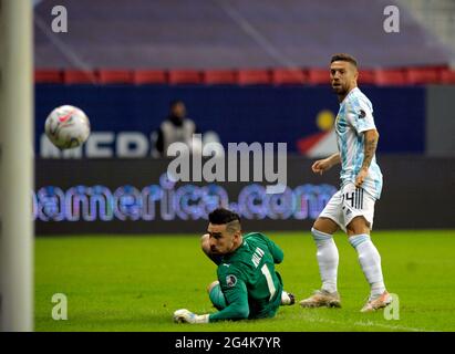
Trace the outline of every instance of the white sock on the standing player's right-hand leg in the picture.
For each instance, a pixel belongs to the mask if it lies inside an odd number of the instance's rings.
[[[370,236],[366,233],[355,235],[349,238],[349,242],[358,251],[360,266],[371,287],[371,298],[381,295],[385,291],[381,256]]]

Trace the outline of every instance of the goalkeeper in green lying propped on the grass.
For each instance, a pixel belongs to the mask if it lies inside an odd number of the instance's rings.
[[[291,293],[283,291],[281,277],[275,270],[275,264],[282,262],[283,252],[273,241],[259,232],[242,235],[240,218],[230,210],[216,209],[208,219],[201,248],[218,266],[218,280],[207,291],[219,311],[198,315],[182,309],[174,312],[175,322],[272,317],[280,305],[296,302]]]

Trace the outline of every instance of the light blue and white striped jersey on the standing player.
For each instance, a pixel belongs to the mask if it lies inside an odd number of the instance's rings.
[[[370,100],[359,87],[351,90],[340,104],[335,122],[337,143],[341,156],[341,186],[355,181],[364,155],[364,134],[362,133],[375,128],[373,105]],[[381,197],[382,173],[375,156],[362,188],[376,199]]]

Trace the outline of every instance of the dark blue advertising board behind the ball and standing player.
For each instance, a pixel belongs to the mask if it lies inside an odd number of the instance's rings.
[[[422,154],[425,148],[425,87],[361,87],[373,103],[381,134],[380,153]],[[46,85],[35,88],[37,156],[59,157],[43,135],[44,121],[56,106],[82,108],[92,125],[89,144],[73,157],[147,157],[153,132],[183,100],[198,131],[213,131],[221,144],[299,142],[321,133],[318,116],[335,116],[338,101],[325,86],[169,86]],[[301,152],[300,152],[301,153]]]

